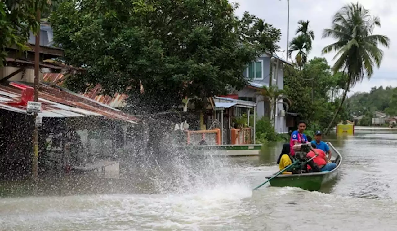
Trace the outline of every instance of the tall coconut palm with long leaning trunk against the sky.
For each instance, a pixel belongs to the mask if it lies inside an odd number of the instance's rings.
[[[323,38],[332,37],[337,41],[326,46],[322,53],[337,52],[332,69],[333,72],[343,71],[347,74],[345,91],[341,103],[333,116],[326,134],[339,113],[349,88],[361,82],[366,76],[374,73],[374,66],[380,67],[383,51],[378,45],[389,47],[390,40],[385,35],[373,34],[374,28],[380,27],[379,17],[372,17],[358,2],[347,4],[335,13],[331,29],[324,29]]]

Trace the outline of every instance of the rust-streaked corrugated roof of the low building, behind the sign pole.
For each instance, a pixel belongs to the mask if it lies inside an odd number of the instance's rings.
[[[15,103],[21,102],[22,99],[22,89],[18,85],[29,88],[28,85],[18,82],[0,85],[0,109],[26,113],[25,105],[15,105]],[[42,103],[42,112],[39,115],[43,117],[104,116],[131,123],[139,121],[136,117],[123,113],[118,109],[58,86],[40,84],[39,102]]]

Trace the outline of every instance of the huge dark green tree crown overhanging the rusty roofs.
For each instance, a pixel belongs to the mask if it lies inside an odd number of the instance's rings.
[[[236,8],[227,0],[69,0],[50,21],[64,61],[87,69],[69,88],[101,84],[106,94],[127,93],[133,113],[153,113],[185,96],[205,108],[206,97],[247,84],[247,63],[278,49],[279,29],[247,12],[238,19]]]

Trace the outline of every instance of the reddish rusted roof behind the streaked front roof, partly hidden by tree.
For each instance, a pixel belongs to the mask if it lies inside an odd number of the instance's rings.
[[[65,79],[63,74],[58,73],[45,73],[43,74],[43,79],[45,82],[50,82],[52,84],[56,84],[61,86]],[[122,108],[126,105],[125,99],[128,98],[126,94],[116,93],[114,97],[110,97],[108,95],[100,95],[98,94],[101,90],[100,84],[97,84],[92,90],[82,93],[81,95],[93,99],[99,103],[103,103],[113,108]]]

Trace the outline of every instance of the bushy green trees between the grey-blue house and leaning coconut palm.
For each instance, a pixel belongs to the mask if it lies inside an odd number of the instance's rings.
[[[308,130],[324,130],[340,103],[335,94],[343,88],[343,74],[333,74],[326,59],[315,57],[302,70],[285,67],[284,89],[292,105],[289,112],[297,113],[308,123]],[[349,113],[342,108],[333,125],[349,119]]]

